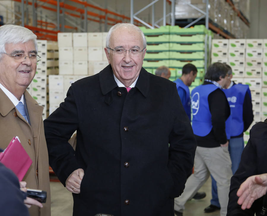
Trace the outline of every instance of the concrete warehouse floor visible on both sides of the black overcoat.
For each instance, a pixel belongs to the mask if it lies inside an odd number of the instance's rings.
[[[51,188],[51,216],[72,216],[72,194],[60,182],[50,182]],[[220,216],[220,211],[204,213],[204,208],[209,206],[211,199],[211,178],[200,188],[206,192],[206,197],[201,200],[190,200],[185,204],[183,216]]]

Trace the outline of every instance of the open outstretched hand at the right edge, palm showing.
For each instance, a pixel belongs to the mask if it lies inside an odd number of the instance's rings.
[[[252,203],[266,194],[267,173],[248,177],[239,187],[236,195],[241,209],[249,209]]]

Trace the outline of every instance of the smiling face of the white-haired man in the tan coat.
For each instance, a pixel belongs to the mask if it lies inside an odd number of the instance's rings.
[[[6,44],[6,53],[36,54],[33,41],[18,44]],[[0,60],[0,83],[17,98],[21,97],[36,73],[36,63],[32,63],[29,57],[23,62],[15,62],[10,55],[3,54]],[[22,92],[22,94],[20,93]]]

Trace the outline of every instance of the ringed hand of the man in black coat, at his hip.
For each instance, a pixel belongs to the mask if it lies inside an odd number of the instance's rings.
[[[66,180],[66,188],[68,189],[68,191],[70,191],[71,193],[80,193],[83,176],[83,169],[80,168],[74,170]]]

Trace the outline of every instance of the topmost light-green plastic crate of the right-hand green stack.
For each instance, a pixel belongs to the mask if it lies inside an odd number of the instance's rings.
[[[205,25],[195,25],[189,28],[180,28],[178,25],[170,26],[170,34],[177,35],[195,35],[195,34],[206,34],[208,30]]]

